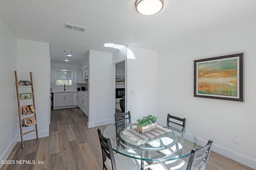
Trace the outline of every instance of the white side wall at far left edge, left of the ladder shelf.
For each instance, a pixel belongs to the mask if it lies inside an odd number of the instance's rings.
[[[18,105],[14,71],[18,69],[18,39],[0,19],[0,85],[2,95],[0,119],[0,160],[6,160],[17,142],[19,133]],[[2,164],[0,164],[1,168]]]

